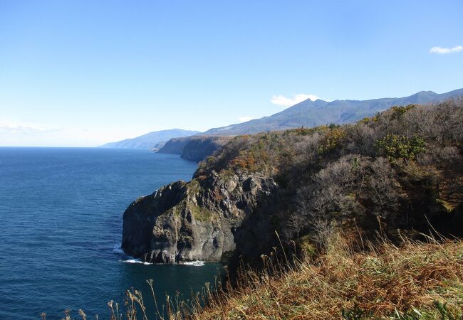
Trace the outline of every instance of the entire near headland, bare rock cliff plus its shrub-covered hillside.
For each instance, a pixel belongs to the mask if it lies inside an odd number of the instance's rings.
[[[318,252],[333,233],[353,245],[378,234],[463,236],[462,119],[456,100],[234,137],[192,181],[130,205],[123,249],[148,262],[228,260],[234,269],[237,257],[259,262],[280,244]]]

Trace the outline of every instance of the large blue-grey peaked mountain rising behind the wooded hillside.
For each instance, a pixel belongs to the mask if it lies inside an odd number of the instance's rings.
[[[332,102],[305,100],[269,117],[254,119],[240,124],[231,124],[227,127],[209,129],[203,134],[231,136],[298,127],[316,127],[330,123],[345,124],[355,122],[364,117],[370,117],[394,105],[427,104],[462,96],[463,89],[459,89],[442,94],[432,91],[421,91],[409,97],[373,100],[335,100]]]

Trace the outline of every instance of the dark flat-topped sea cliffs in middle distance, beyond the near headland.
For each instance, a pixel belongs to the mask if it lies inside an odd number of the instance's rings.
[[[231,137],[194,136],[170,139],[157,152],[160,154],[180,154],[182,159],[189,161],[202,161],[221,146],[224,146]]]

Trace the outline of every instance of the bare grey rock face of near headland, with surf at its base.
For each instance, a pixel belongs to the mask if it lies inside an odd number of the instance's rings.
[[[269,221],[247,228],[246,220],[275,188],[264,176],[217,174],[164,186],[125,210],[123,250],[147,262],[227,260],[252,235],[270,233]]]

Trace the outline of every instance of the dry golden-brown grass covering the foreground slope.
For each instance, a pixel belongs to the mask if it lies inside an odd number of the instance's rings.
[[[338,238],[316,260],[290,266],[284,256],[263,259],[266,270],[241,271],[234,287],[207,285],[189,302],[167,297],[159,309],[154,299],[158,318],[463,319],[462,240],[405,240],[400,247],[384,241],[354,252]],[[145,303],[140,292],[128,292],[125,311],[108,303],[110,319],[145,320]]]

